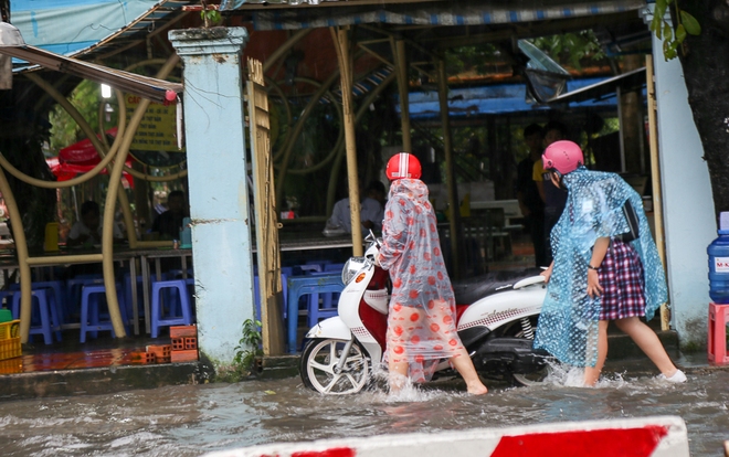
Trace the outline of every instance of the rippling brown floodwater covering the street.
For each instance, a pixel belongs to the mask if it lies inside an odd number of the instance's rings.
[[[197,456],[273,442],[503,427],[582,419],[678,415],[695,457],[719,456],[729,439],[729,371],[689,374],[674,385],[609,374],[596,389],[558,372],[545,385],[489,385],[463,393],[434,382],[390,396],[381,390],[321,396],[298,378],[0,403],[3,456]]]

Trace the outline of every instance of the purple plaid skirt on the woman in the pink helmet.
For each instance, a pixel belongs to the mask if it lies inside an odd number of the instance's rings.
[[[600,320],[645,316],[643,263],[630,244],[611,240],[598,277],[603,287]]]

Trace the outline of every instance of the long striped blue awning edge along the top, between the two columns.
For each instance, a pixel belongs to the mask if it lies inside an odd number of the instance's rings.
[[[358,2],[342,1],[342,7],[339,8],[293,7],[299,2],[300,0],[289,0],[288,3],[292,4],[289,8],[255,10],[253,12],[255,30],[314,29],[364,23],[489,25],[611,14],[645,8],[645,0],[541,0],[498,3],[441,1],[378,6],[357,6]],[[239,8],[244,9],[245,3]]]

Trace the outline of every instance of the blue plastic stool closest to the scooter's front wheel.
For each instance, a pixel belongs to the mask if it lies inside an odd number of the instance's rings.
[[[288,352],[296,353],[296,330],[298,327],[298,299],[304,295],[316,294],[317,310],[314,307],[308,307],[308,312],[316,312],[319,317],[318,310],[318,294],[325,293],[341,293],[345,285],[341,283],[341,275],[338,273],[320,274],[320,275],[304,275],[292,276],[288,278],[288,316],[287,316],[287,343]],[[315,300],[309,300],[309,304]]]

